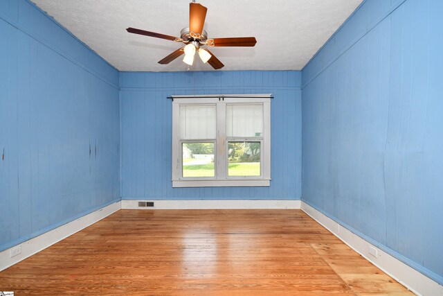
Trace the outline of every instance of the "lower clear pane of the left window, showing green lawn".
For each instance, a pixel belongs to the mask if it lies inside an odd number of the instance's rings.
[[[183,143],[183,177],[215,177],[214,143]]]

